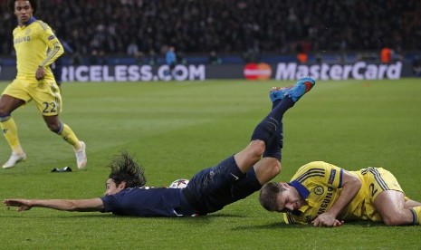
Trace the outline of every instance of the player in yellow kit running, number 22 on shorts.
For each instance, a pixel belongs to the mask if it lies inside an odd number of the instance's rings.
[[[0,97],[0,127],[12,148],[12,155],[3,168],[12,168],[26,159],[11,113],[29,101],[35,102],[47,127],[73,146],[78,168],[85,168],[85,143],[59,119],[62,96],[50,65],[62,55],[62,44],[48,24],[33,17],[36,0],[8,0],[7,7],[18,21],[13,32],[17,76]]]

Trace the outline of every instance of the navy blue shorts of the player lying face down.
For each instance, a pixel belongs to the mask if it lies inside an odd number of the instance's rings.
[[[206,215],[250,196],[261,187],[254,168],[243,174],[231,156],[215,167],[198,172],[190,179],[183,194],[199,214]]]

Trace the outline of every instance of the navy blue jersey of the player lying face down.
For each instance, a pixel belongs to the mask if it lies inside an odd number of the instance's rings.
[[[167,187],[131,187],[112,196],[100,197],[104,203],[102,212],[120,216],[193,216],[181,193],[182,189]]]

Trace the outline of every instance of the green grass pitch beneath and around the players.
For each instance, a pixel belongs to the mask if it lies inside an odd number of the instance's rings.
[[[190,178],[248,144],[270,109],[268,91],[291,82],[64,82],[61,118],[87,144],[79,171],[72,148],[49,132],[33,103],[14,112],[28,159],[0,169],[0,199],[91,198],[104,192],[107,163],[134,153],[148,186]],[[0,83],[5,89],[6,82]],[[312,160],[342,168],[383,167],[407,196],[421,200],[421,82],[317,82],[284,116],[282,173]],[[0,159],[10,149],[0,139]],[[51,173],[70,166],[72,173]],[[196,218],[137,218],[0,207],[0,242],[13,248],[419,248],[420,226],[370,222],[340,228],[287,226],[260,207],[257,194]]]

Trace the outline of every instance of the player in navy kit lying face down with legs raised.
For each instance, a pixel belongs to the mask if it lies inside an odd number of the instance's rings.
[[[18,211],[48,207],[65,211],[112,212],[120,216],[197,216],[243,199],[281,171],[282,116],[315,81],[302,78],[270,92],[273,110],[256,126],[250,144],[212,168],[196,173],[185,188],[144,187],[142,168],[127,153],[110,163],[104,197],[91,199],[5,199]]]

